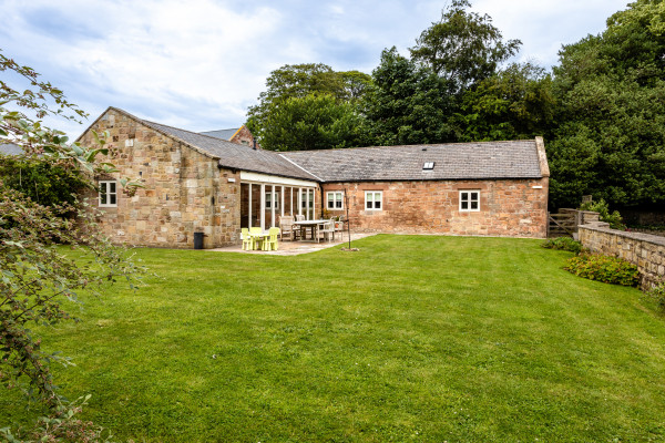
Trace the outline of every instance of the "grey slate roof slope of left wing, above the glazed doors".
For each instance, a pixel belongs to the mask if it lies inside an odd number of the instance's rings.
[[[300,167],[294,165],[274,151],[254,150],[250,146],[238,145],[218,137],[178,130],[177,127],[166,126],[141,119],[136,120],[165,135],[171,135],[195,146],[198,150],[208,153],[211,156],[218,157],[221,166],[318,182],[317,177],[303,171]]]

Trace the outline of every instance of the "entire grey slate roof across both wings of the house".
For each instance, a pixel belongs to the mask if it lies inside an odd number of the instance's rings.
[[[145,121],[116,107],[110,109],[131,116],[145,126],[178,140],[205,155],[218,158],[223,167],[246,172],[328,183],[549,176],[540,137],[540,142],[523,140],[277,153],[231,143],[206,133],[195,133]],[[543,161],[543,172],[541,172],[540,158]],[[424,163],[428,162],[434,163],[432,169],[423,169]]]

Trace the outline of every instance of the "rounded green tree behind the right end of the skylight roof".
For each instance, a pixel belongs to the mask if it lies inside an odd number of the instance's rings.
[[[553,124],[552,79],[532,63],[512,63],[468,90],[459,115],[467,142],[533,138]]]

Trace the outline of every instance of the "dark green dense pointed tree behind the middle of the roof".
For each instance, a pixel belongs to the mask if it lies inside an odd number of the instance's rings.
[[[369,136],[377,145],[454,141],[448,119],[449,83],[429,68],[385,50],[364,101]]]

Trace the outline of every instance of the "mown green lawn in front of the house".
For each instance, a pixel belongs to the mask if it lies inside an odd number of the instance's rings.
[[[665,441],[665,319],[540,244],[142,249],[161,278],[86,298],[47,342],[75,357],[63,392],[137,442]]]

